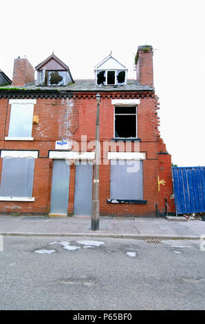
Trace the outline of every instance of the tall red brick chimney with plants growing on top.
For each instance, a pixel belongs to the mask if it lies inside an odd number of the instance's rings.
[[[151,45],[138,46],[135,63],[138,83],[153,87],[153,48]]]

